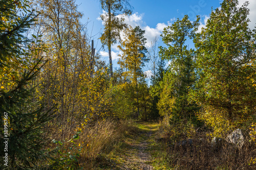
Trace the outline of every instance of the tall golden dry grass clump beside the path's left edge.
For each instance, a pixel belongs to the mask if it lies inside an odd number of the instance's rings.
[[[102,160],[100,154],[111,152],[123,135],[131,130],[130,127],[132,126],[127,120],[121,122],[107,120],[103,124],[97,124],[83,132],[78,140],[84,146],[79,157],[79,164],[88,169],[93,169],[95,163],[103,163],[101,161],[104,160]]]

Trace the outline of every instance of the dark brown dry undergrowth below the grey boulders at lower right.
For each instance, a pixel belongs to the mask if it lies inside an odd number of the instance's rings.
[[[242,149],[222,142],[213,147],[206,136],[192,138],[193,144],[179,142],[169,146],[168,161],[176,169],[256,169],[250,163],[256,156],[255,144],[245,142]]]

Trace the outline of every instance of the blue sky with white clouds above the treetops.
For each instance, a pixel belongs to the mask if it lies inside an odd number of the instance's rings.
[[[240,0],[242,5],[246,0]],[[247,0],[248,1],[248,0]],[[196,15],[200,15],[201,24],[200,28],[205,25],[207,18],[212,9],[220,7],[221,0],[130,0],[131,6],[133,6],[133,14],[130,17],[126,17],[125,21],[135,27],[140,26],[142,30],[145,30],[145,38],[147,38],[147,45],[157,36],[159,37],[159,45],[163,45],[161,42],[160,34],[164,27],[172,25],[177,18],[182,18],[184,15],[188,15],[190,20],[195,20]],[[249,9],[251,24],[250,28],[255,27],[256,23],[256,1],[249,0]],[[98,40],[102,33],[103,26],[102,21],[99,19],[101,13],[103,13],[99,0],[77,0],[76,4],[79,5],[78,10],[84,14],[83,23],[88,23],[89,33],[97,43],[96,51],[102,55],[102,60],[109,63],[108,50],[101,48],[100,41]],[[118,54],[120,52],[116,48],[117,45],[113,45],[113,67],[119,67],[117,64]],[[145,68],[147,69],[147,68]]]

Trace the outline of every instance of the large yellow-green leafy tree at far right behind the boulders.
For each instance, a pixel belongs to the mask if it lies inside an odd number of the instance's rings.
[[[255,30],[248,28],[248,2],[225,0],[212,11],[195,39],[199,81],[193,100],[203,106],[199,116],[221,132],[247,122],[255,113]]]

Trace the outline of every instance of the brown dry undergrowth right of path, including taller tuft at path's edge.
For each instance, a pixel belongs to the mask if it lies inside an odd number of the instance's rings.
[[[158,141],[166,144],[166,159],[173,169],[256,169],[256,164],[251,161],[256,158],[256,145],[249,142],[249,136],[239,149],[225,140],[212,146],[211,137],[205,132],[175,138],[171,128],[162,124]]]

